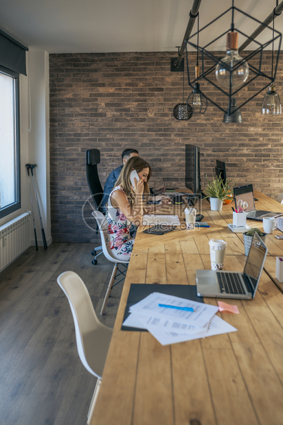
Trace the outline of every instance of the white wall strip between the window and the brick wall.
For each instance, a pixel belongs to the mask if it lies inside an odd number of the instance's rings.
[[[32,209],[25,164],[36,164],[34,176],[38,189],[38,202],[49,245],[52,242],[49,195],[49,56],[45,51],[30,49],[27,52],[27,77],[20,76],[20,125],[21,209],[0,219],[0,226]],[[41,223],[34,198],[33,206],[38,245],[43,245]],[[35,245],[33,228],[31,241],[32,245]]]

